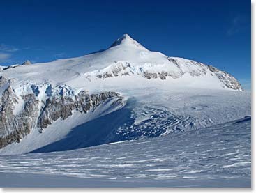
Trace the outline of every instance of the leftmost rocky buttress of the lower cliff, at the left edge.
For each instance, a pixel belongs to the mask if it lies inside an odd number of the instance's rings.
[[[24,97],[24,109],[16,116],[13,114],[17,95],[8,86],[0,98],[0,148],[20,142],[36,125],[38,116],[38,100],[34,95]]]

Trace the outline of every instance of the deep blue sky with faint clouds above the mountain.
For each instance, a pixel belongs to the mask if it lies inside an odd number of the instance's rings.
[[[146,48],[225,70],[250,87],[248,0],[0,2],[0,65],[109,47],[128,33]]]

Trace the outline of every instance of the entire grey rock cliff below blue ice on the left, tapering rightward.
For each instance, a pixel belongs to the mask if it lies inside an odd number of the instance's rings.
[[[74,111],[87,113],[110,98],[116,97],[119,102],[123,99],[119,93],[114,92],[89,94],[87,91],[80,91],[77,95],[74,92],[65,95],[62,91],[50,95],[43,101],[38,99],[38,89],[32,89],[34,93],[28,95],[16,95],[10,80],[5,77],[0,77],[0,86],[2,89],[5,86],[0,97],[0,148],[19,143],[34,128],[38,128],[38,132],[43,132],[48,125],[59,118],[61,120],[68,118]],[[49,94],[47,92],[46,90],[46,95]],[[23,107],[16,112],[15,108],[21,101]]]

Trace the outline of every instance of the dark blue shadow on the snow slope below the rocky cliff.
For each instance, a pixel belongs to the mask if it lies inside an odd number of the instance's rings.
[[[74,150],[97,146],[108,142],[122,141],[122,139],[109,139],[108,134],[123,124],[132,124],[131,112],[128,107],[123,107],[105,116],[83,123],[71,130],[68,135],[59,141],[33,150],[30,153],[47,153],[53,151]]]

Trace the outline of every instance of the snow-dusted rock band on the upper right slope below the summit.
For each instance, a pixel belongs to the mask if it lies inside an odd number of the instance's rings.
[[[142,65],[140,68],[138,68],[125,61],[116,61],[107,68],[96,70],[93,72],[93,75],[91,75],[91,73],[86,73],[86,77],[91,81],[91,79],[96,78],[107,79],[112,77],[137,75],[146,79],[165,80],[167,77],[178,79],[186,73],[188,73],[191,77],[203,77],[209,73],[211,75],[215,75],[227,88],[243,91],[241,84],[239,84],[239,82],[232,75],[229,75],[227,72],[219,70],[211,65],[205,65],[204,63],[199,63],[192,60],[183,59],[183,61],[179,61],[179,59],[172,57],[167,57],[167,59],[170,61],[170,64],[175,65],[179,71],[166,70],[164,68],[151,71],[149,66],[147,66],[148,64]],[[186,68],[184,68],[184,65]]]

